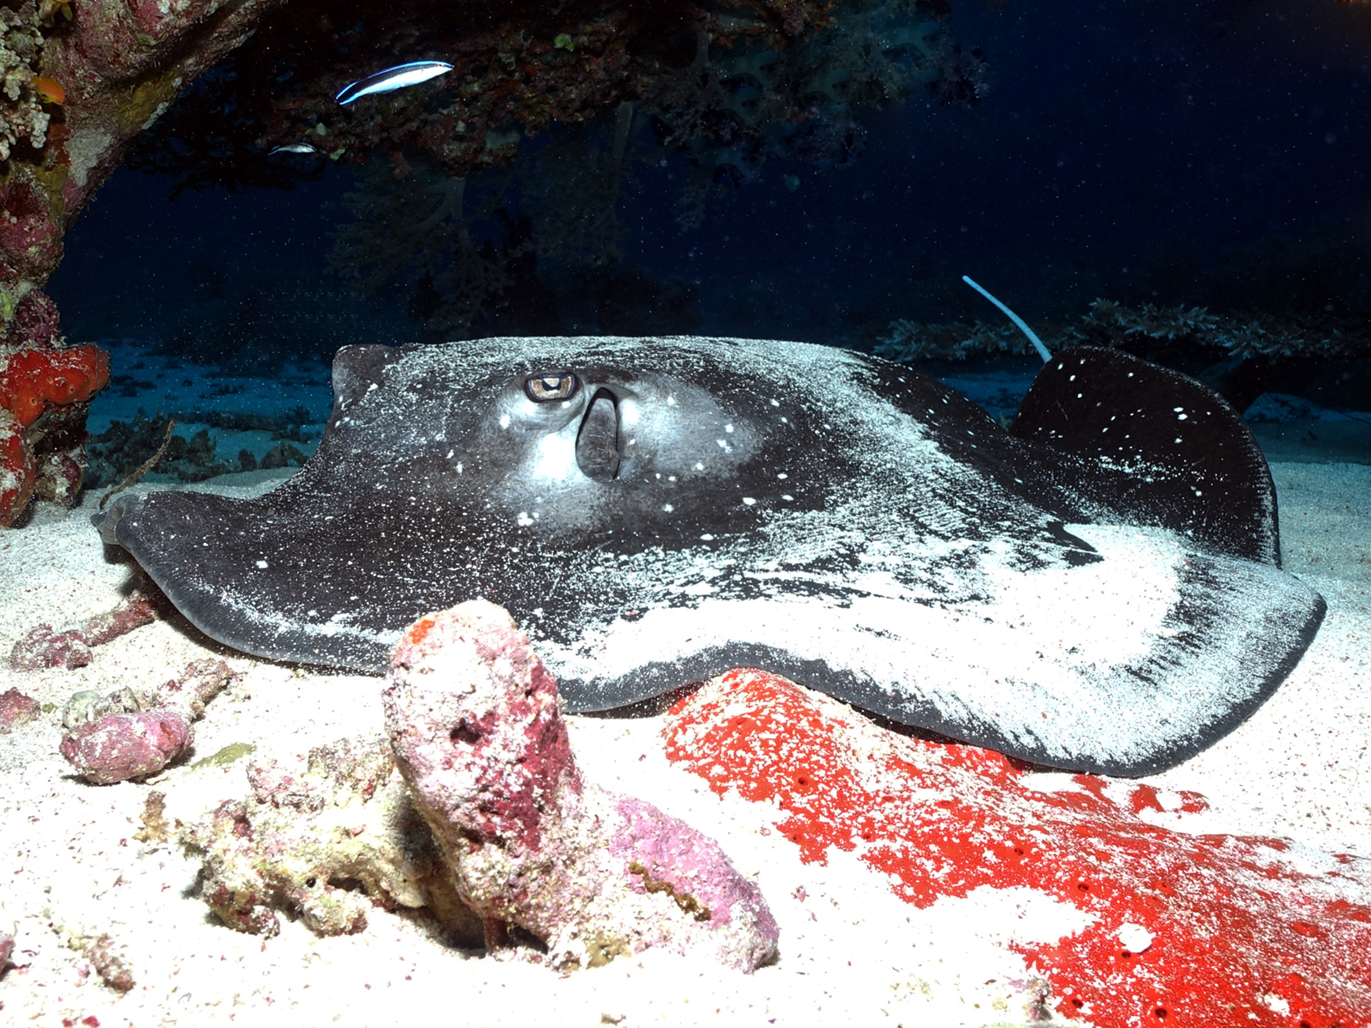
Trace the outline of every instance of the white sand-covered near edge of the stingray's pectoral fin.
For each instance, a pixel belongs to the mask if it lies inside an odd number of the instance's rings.
[[[979,599],[706,598],[543,657],[573,710],[757,666],[1034,763],[1137,776],[1237,728],[1323,620],[1323,599],[1271,565],[1186,552],[1164,532],[1068,528],[1101,559],[1024,573],[987,555]]]

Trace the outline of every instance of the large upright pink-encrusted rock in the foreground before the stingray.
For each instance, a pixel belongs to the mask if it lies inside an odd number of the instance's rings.
[[[776,953],[761,891],[709,836],[581,779],[557,683],[510,615],[472,600],[415,622],[383,692],[396,763],[484,918],[559,968],[665,946],[750,972]]]

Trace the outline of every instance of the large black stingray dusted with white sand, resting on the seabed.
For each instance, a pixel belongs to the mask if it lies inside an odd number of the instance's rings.
[[[1275,491],[1215,393],[1054,358],[1013,433],[899,365],[801,343],[345,347],[318,452],[258,499],[97,515],[202,631],[381,673],[484,596],[568,706],[735,666],[1113,774],[1226,735],[1309,646]]]

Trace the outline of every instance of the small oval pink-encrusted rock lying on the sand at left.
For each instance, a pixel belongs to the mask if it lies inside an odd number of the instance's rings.
[[[62,755],[96,785],[156,774],[184,754],[195,739],[174,710],[108,714],[81,725],[62,740]]]

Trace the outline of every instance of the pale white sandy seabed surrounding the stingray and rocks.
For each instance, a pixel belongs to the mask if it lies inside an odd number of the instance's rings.
[[[1142,780],[1201,792],[1209,807],[1143,817],[1371,857],[1371,466],[1276,463],[1272,476],[1285,566],[1324,595],[1327,620],[1246,724]],[[195,488],[255,493],[277,481],[256,473]],[[0,654],[36,624],[63,628],[107,611],[129,588],[130,566],[108,562],[90,528],[93,509],[90,496],[71,511],[40,504],[26,526],[0,535]],[[188,761],[141,784],[96,787],[71,774],[58,743],[73,692],[155,685],[203,657],[226,659],[243,678],[196,722]],[[424,916],[380,909],[351,936],[321,939],[287,918],[277,938],[241,935],[196,896],[197,861],[174,843],[134,837],[149,790],[165,792],[167,817],[182,821],[244,796],[247,761],[196,766],[226,746],[303,758],[377,731],[380,687],[245,658],[180,618],[97,648],[78,670],[0,668],[0,692],[16,688],[47,711],[0,735],[0,931],[15,935],[19,965],[0,977],[0,1023],[1047,1024],[1034,1020],[1041,977],[1012,944],[1069,936],[1083,927],[1080,910],[1027,888],[979,888],[916,909],[853,854],[802,864],[775,831],[775,807],[720,798],[668,762],[659,717],[569,718],[577,759],[599,784],[713,835],[758,883],[780,924],[780,958],[754,975],[647,951],[563,976],[528,951],[446,946]],[[126,994],[108,988],[80,949],[101,935],[136,981]]]

